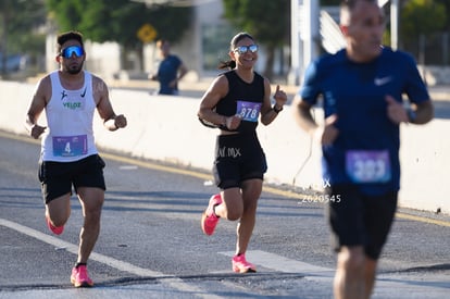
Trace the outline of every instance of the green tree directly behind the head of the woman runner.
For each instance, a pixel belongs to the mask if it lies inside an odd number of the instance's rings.
[[[289,43],[290,0],[223,0],[225,17],[239,30],[250,33],[265,46],[264,75],[273,77],[275,51]]]

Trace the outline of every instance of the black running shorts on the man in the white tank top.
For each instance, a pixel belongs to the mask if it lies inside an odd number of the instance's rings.
[[[98,154],[75,162],[39,162],[38,177],[46,203],[78,187],[107,189],[103,177],[104,161]]]

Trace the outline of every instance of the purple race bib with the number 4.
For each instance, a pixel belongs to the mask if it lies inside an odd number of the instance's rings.
[[[87,153],[87,136],[54,136],[54,157],[77,157]]]

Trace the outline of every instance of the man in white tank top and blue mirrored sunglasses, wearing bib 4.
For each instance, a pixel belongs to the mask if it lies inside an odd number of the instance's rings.
[[[125,116],[114,113],[105,83],[83,70],[85,60],[80,33],[59,35],[57,62],[60,68],[40,79],[26,117],[30,136],[37,139],[42,135],[39,180],[48,227],[57,235],[62,234],[71,214],[72,186],[83,208],[85,221],[78,258],[71,275],[75,287],[93,285],[86,265],[99,236],[107,189],[104,162],[93,140],[96,108],[109,130],[126,126]],[[42,111],[47,126],[38,125]]]

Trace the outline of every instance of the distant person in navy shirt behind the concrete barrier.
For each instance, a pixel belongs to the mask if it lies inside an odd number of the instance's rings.
[[[158,40],[157,48],[160,50],[162,61],[157,75],[150,78],[160,82],[159,95],[178,95],[178,82],[188,70],[177,55],[171,54],[171,45],[167,40]]]

